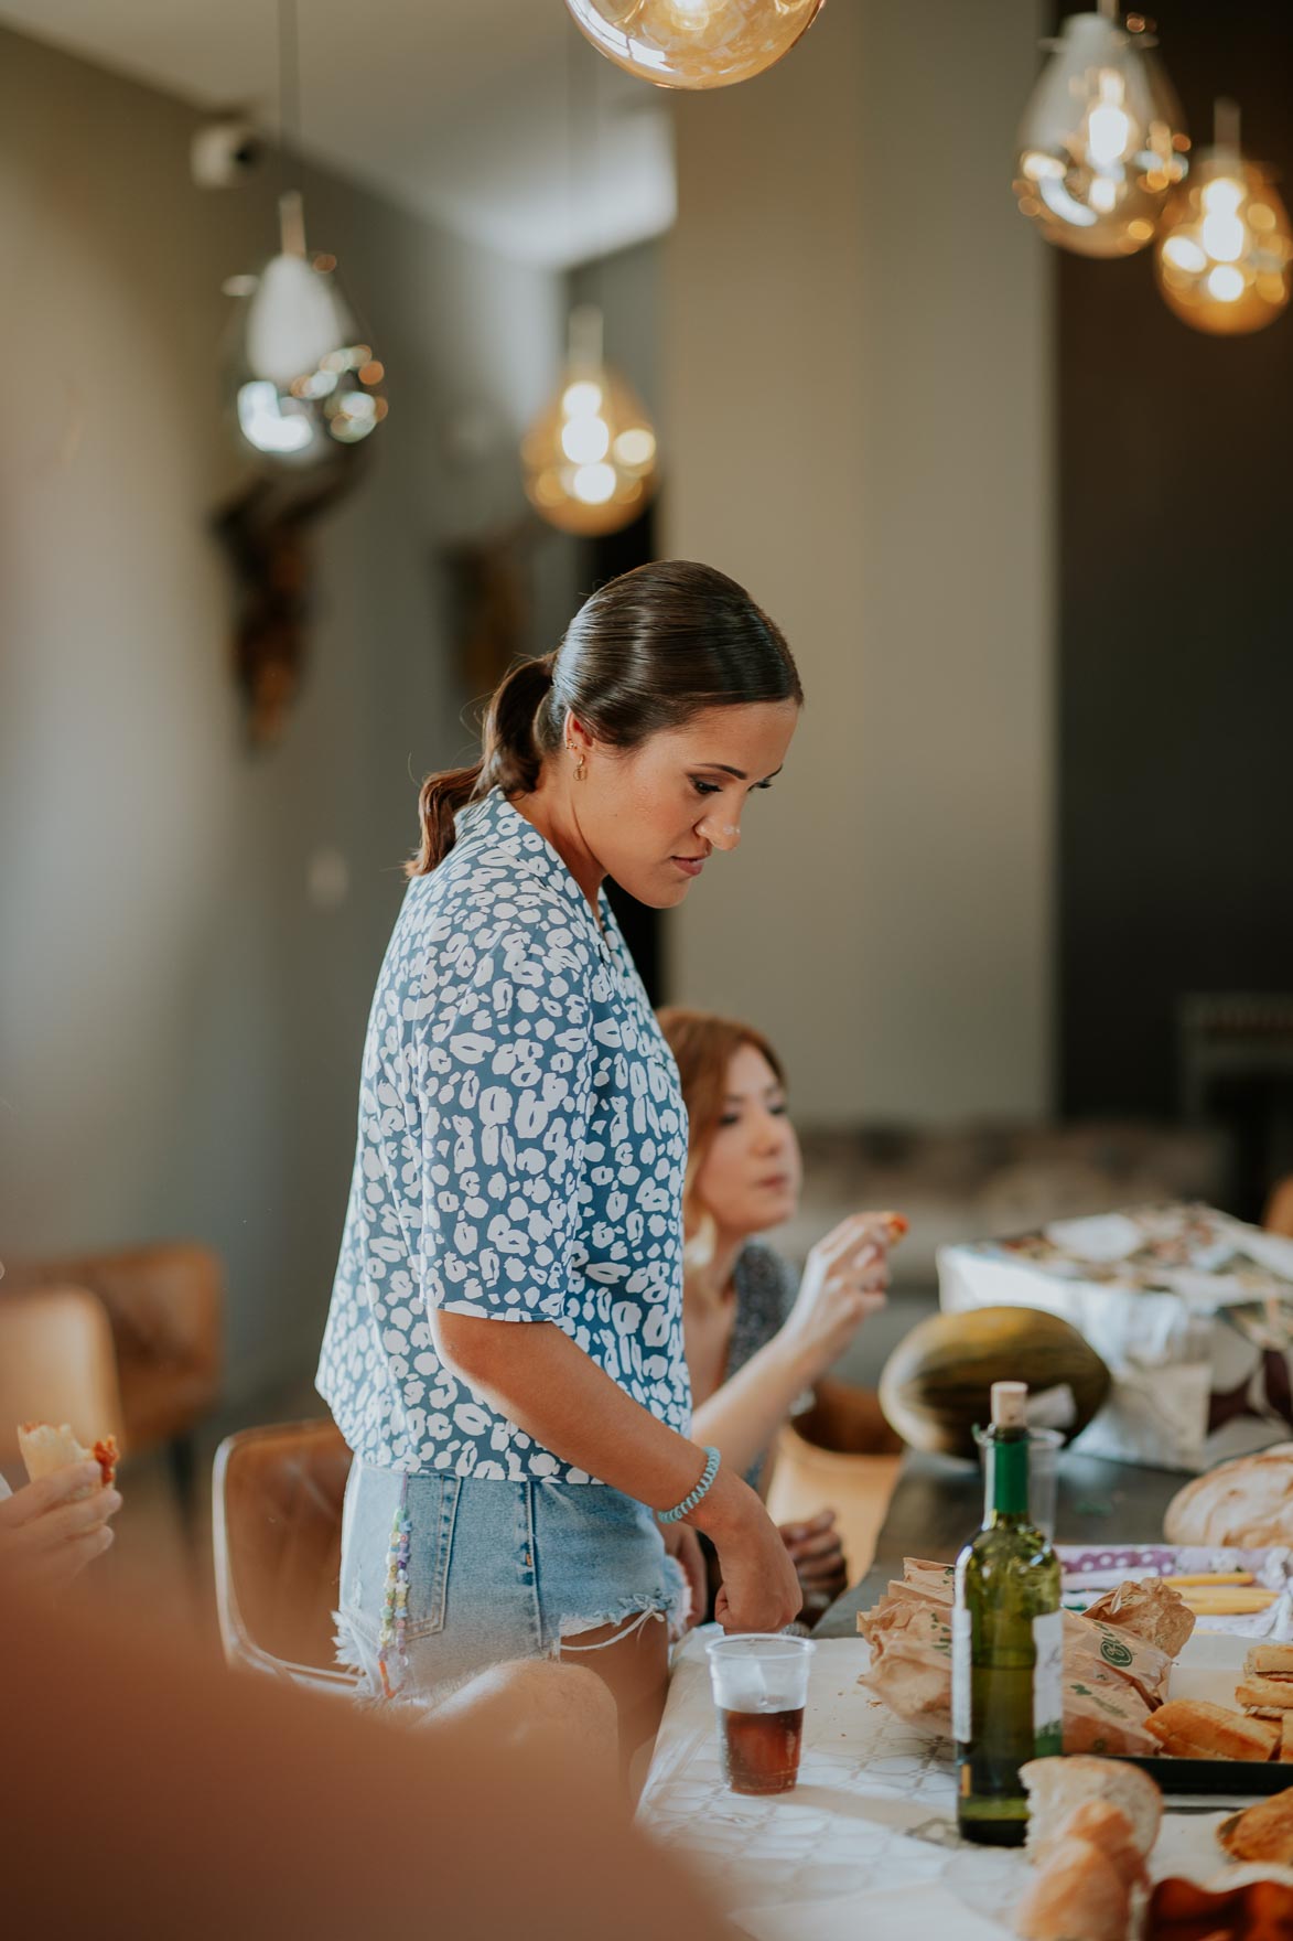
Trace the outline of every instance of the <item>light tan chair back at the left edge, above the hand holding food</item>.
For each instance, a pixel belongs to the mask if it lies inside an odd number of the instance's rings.
[[[83,1287],[49,1287],[0,1300],[0,1469],[21,1475],[19,1423],[70,1423],[85,1444],[124,1446],[113,1328]]]

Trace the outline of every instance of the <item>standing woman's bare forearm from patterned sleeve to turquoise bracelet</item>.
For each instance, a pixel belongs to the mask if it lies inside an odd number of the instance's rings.
[[[441,1359],[474,1394],[563,1462],[652,1510],[674,1508],[699,1483],[705,1456],[697,1444],[633,1401],[553,1322],[435,1312],[431,1332]],[[722,1487],[689,1518],[711,1533],[728,1502],[720,1475]]]

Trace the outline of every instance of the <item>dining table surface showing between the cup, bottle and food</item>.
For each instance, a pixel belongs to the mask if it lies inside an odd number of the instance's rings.
[[[1144,1545],[1182,1475],[1064,1452],[1056,1537],[1083,1547]],[[724,1784],[705,1646],[676,1652],[666,1714],[639,1805],[648,1834],[681,1854],[753,1941],[1006,1941],[1029,1865],[1019,1850],[961,1840],[947,1741],[905,1724],[860,1677],[870,1650],[858,1611],[901,1578],[903,1559],[955,1559],[982,1518],[977,1464],[909,1452],[872,1568],[813,1630],[798,1786],[746,1797]],[[1202,1817],[1169,1813],[1155,1877],[1192,1871],[1211,1850]],[[1217,1856],[1219,1858],[1219,1856]]]

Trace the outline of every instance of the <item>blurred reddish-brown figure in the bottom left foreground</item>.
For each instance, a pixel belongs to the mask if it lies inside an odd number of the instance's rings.
[[[561,1667],[542,1667],[557,1708]],[[577,1691],[590,1673],[573,1673]],[[565,1691],[565,1687],[563,1687]],[[720,1941],[571,1741],[404,1729],[122,1611],[0,1601],[0,1931],[54,1941]],[[25,1929],[19,1925],[25,1924]]]

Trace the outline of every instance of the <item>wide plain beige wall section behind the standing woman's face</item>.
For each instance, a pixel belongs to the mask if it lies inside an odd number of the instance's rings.
[[[672,990],[819,1124],[1050,1101],[1050,262],[1010,192],[1044,14],[837,0],[678,103],[668,551],[751,588],[808,708]]]

